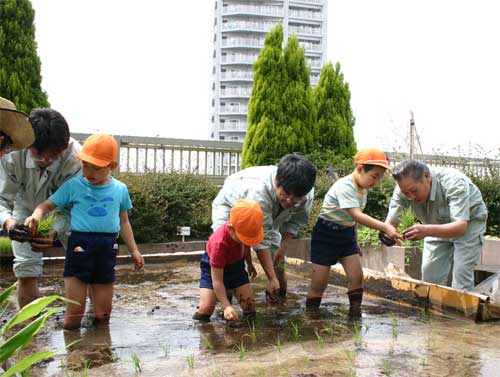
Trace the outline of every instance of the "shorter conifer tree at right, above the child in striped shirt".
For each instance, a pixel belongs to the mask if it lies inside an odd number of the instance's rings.
[[[356,153],[354,116],[351,109],[351,91],[344,82],[340,64],[331,63],[321,70],[318,86],[314,90],[319,151],[331,151],[337,156],[352,157]]]

